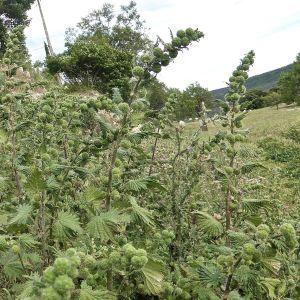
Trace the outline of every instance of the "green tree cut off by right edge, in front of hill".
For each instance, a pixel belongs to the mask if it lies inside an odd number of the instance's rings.
[[[284,73],[279,80],[279,92],[282,102],[300,105],[300,54],[291,71]]]

